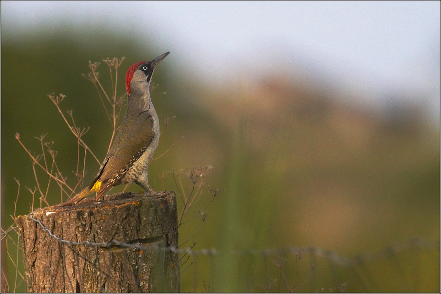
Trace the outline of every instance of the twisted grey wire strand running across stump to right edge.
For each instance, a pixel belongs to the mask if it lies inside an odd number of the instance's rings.
[[[424,248],[424,249],[440,249],[440,243],[438,241],[423,239],[423,238],[414,238],[408,241],[400,242],[393,244],[391,246],[386,247],[383,250],[377,252],[365,252],[355,257],[341,257],[335,252],[324,250],[320,247],[283,247],[283,248],[267,248],[267,249],[250,249],[250,250],[232,250],[232,251],[221,251],[217,249],[200,249],[200,250],[192,250],[190,247],[179,249],[174,246],[161,247],[156,244],[129,244],[120,242],[117,240],[110,240],[109,242],[100,242],[93,243],[90,241],[83,242],[73,242],[69,240],[64,240],[56,235],[54,235],[41,221],[35,219],[33,217],[33,213],[30,214],[30,218],[37,222],[40,227],[49,233],[51,237],[59,241],[60,243],[65,243],[69,245],[88,245],[92,247],[107,247],[110,248],[112,246],[120,246],[123,248],[137,248],[139,250],[149,250],[149,249],[157,249],[161,251],[171,251],[176,254],[187,254],[189,256],[215,256],[222,254],[231,254],[231,255],[240,255],[240,256],[271,256],[271,255],[286,255],[288,253],[294,255],[302,255],[302,254],[310,254],[317,257],[323,257],[328,259],[329,261],[340,265],[342,267],[354,267],[363,262],[374,262],[376,260],[380,260],[383,258],[391,257],[400,252],[408,251],[414,248]]]

